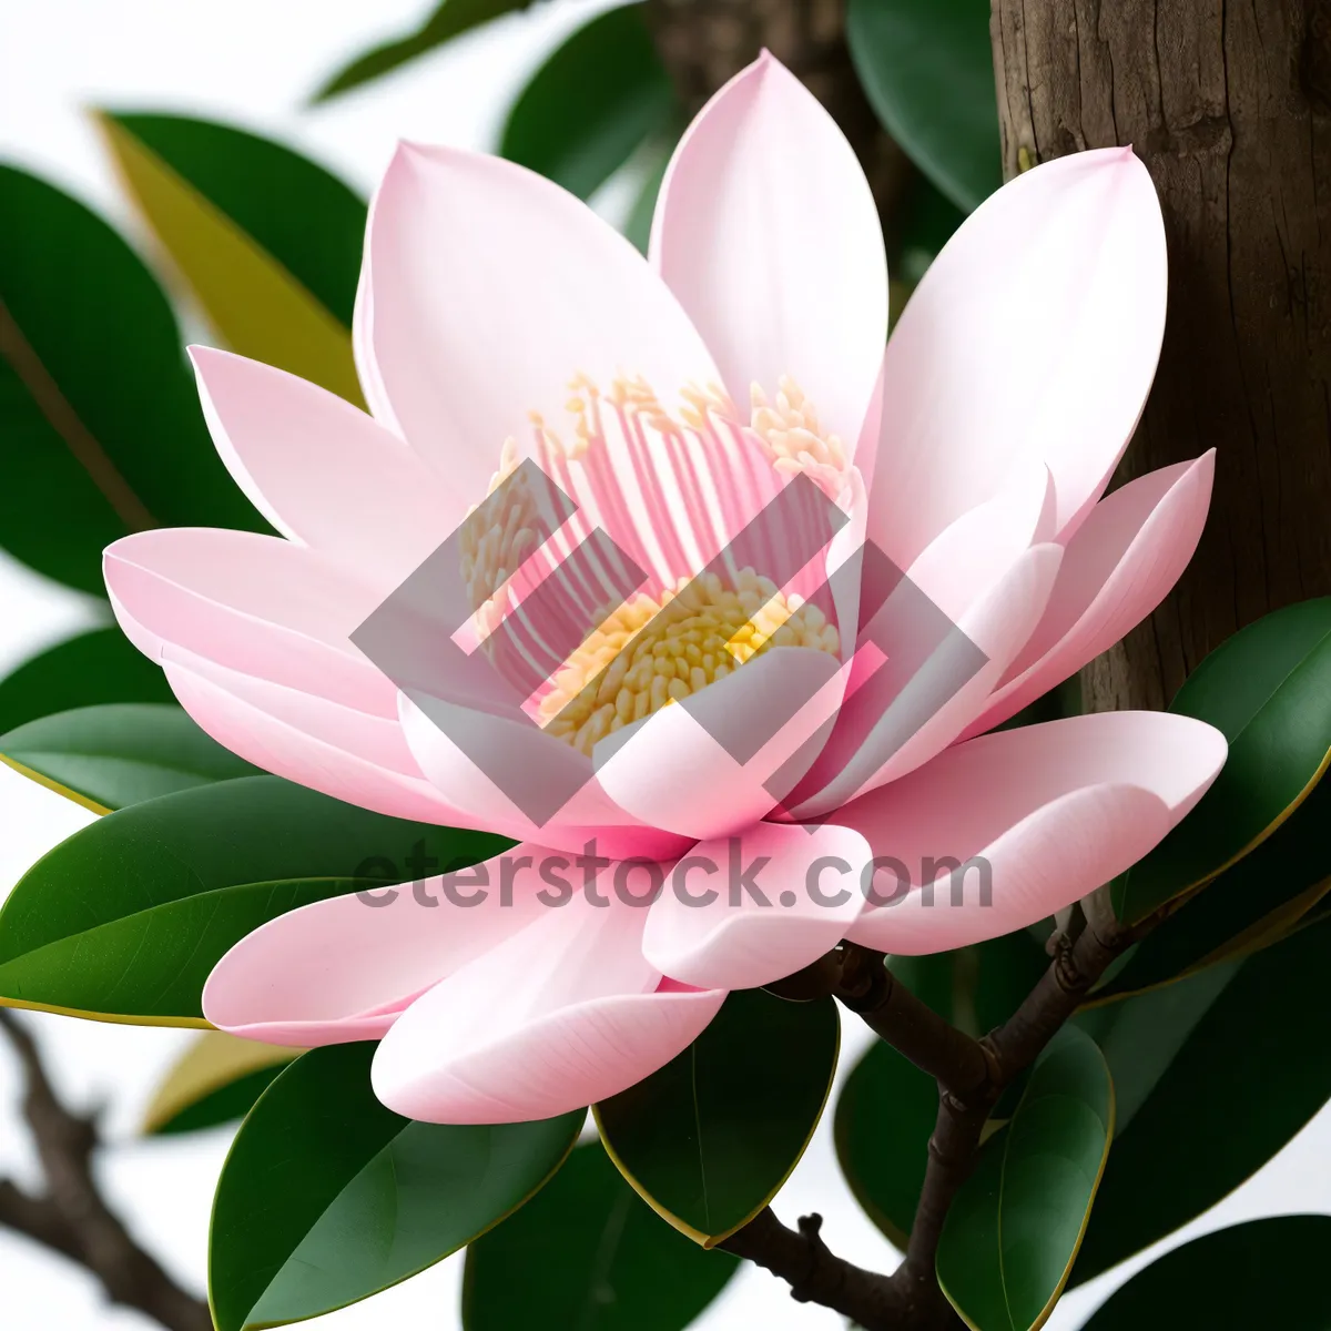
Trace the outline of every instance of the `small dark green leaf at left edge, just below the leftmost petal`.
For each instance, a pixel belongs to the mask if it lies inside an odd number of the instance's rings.
[[[156,662],[118,628],[95,628],[28,658],[0,679],[0,733],[73,707],[173,700]]]

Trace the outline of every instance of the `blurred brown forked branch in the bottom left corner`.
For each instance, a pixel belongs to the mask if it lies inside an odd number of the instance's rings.
[[[169,1331],[212,1331],[208,1306],[134,1243],[102,1199],[92,1169],[100,1143],[95,1121],[61,1103],[32,1036],[3,1008],[0,1030],[23,1069],[23,1113],[47,1183],[35,1197],[0,1179],[0,1225],[79,1262],[112,1302],[137,1308]]]

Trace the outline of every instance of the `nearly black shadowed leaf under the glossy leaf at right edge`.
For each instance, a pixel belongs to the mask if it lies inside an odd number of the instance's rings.
[[[1251,855],[1226,869],[1142,938],[1097,1000],[1169,984],[1274,942],[1331,888],[1331,781]]]

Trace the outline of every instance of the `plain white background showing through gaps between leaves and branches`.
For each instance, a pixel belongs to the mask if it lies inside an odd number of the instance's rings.
[[[305,109],[309,92],[347,57],[419,20],[430,0],[0,0],[0,157],[40,172],[132,229],[85,110],[196,112],[273,134],[369,190],[397,138],[490,148],[508,98],[543,53],[598,0],[550,0],[465,37],[405,73],[329,108]],[[603,202],[616,206],[614,196]],[[0,222],[3,244],[3,222]],[[108,335],[112,335],[108,330]],[[3,447],[3,443],[0,443]],[[0,469],[3,483],[3,469]],[[52,515],[59,522],[59,515]],[[0,675],[77,627],[98,607],[15,566],[0,552]],[[91,815],[0,765],[0,896],[44,851]],[[188,1036],[178,1032],[33,1016],[60,1087],[105,1106],[112,1149],[108,1193],[137,1235],[185,1284],[202,1291],[208,1211],[228,1145],[222,1130],[165,1143],[136,1138],[156,1078]],[[843,1074],[865,1041],[847,1030]],[[32,1183],[33,1161],[16,1114],[17,1079],[0,1050],[0,1175]],[[777,1203],[788,1222],[825,1217],[835,1250],[864,1266],[897,1256],[841,1182],[831,1115]],[[892,1106],[882,1109],[892,1131]],[[1179,1133],[1187,1125],[1179,1123]],[[1331,1115],[1323,1114],[1244,1187],[1183,1231],[1191,1235],[1254,1215],[1331,1210]],[[1178,1242],[1178,1236],[1173,1242]],[[1171,1246],[1171,1244],[1169,1244]],[[1067,1296],[1053,1328],[1077,1327],[1142,1259]],[[377,1299],[311,1326],[326,1331],[451,1331],[458,1326],[461,1258]],[[0,1323],[13,1331],[148,1328],[110,1308],[96,1282],[61,1258],[0,1231]],[[832,1331],[841,1319],[795,1304],[784,1286],[744,1270],[696,1323],[703,1331]],[[516,1328],[515,1328],[516,1331]],[[563,1331],[552,1327],[550,1331]]]

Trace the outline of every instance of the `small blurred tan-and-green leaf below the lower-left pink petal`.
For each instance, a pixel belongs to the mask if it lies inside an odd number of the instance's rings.
[[[244,1118],[297,1053],[205,1030],[153,1093],[144,1111],[144,1134],[194,1133]]]

